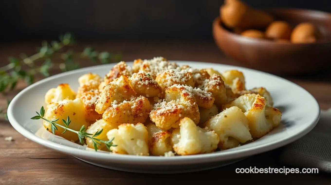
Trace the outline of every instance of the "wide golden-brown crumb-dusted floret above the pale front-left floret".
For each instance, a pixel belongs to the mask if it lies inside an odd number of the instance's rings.
[[[151,112],[151,104],[144,96],[133,98],[130,101],[124,100],[121,103],[114,100],[113,104],[106,109],[102,118],[112,124],[123,123],[144,123]]]

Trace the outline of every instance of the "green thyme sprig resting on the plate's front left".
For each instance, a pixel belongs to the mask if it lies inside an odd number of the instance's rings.
[[[43,106],[40,108],[39,113],[38,112],[36,112],[36,113],[37,113],[37,115],[36,116],[33,116],[31,119],[32,120],[43,119],[43,120],[47,121],[48,123],[50,123],[51,124],[51,131],[52,131],[53,134],[55,134],[55,130],[58,130],[58,128],[56,127],[56,126],[58,126],[58,127],[61,127],[61,128],[64,129],[64,131],[62,132],[62,134],[65,133],[67,130],[76,133],[78,135],[78,139],[79,139],[79,142],[81,144],[84,144],[84,140],[83,140],[84,137],[90,138],[90,139],[92,139],[92,142],[93,142],[93,146],[94,146],[95,151],[98,150],[98,145],[100,146],[101,143],[104,143],[109,151],[112,151],[110,149],[111,146],[117,146],[117,145],[113,144],[114,138],[111,139],[111,140],[108,140],[108,141],[104,141],[104,140],[100,140],[100,139],[95,138],[96,136],[98,136],[98,135],[100,135],[102,133],[103,129],[98,130],[94,134],[87,133],[85,131],[85,126],[84,125],[79,129],[79,131],[70,129],[69,128],[69,125],[71,123],[71,120],[70,120],[69,116],[68,116],[67,120],[62,119],[62,122],[65,125],[65,126],[62,126],[62,125],[56,123],[59,119],[50,121],[50,120],[44,118],[44,116],[45,116],[45,109],[44,109]]]

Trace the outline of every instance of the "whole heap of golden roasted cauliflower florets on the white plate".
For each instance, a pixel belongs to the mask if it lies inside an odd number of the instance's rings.
[[[263,87],[246,90],[238,70],[197,69],[154,57],[136,59],[132,66],[121,61],[103,75],[82,75],[77,92],[69,84],[50,89],[45,118],[70,116],[70,129],[85,125],[92,135],[102,130],[95,138],[114,138],[114,154],[172,157],[226,150],[262,137],[281,120],[270,93]],[[46,121],[44,127],[51,130]],[[55,134],[78,140],[76,133],[63,131]],[[95,147],[93,139],[84,141]]]

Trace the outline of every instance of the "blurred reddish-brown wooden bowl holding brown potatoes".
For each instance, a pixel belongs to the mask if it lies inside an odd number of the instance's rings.
[[[301,9],[269,9],[266,12],[293,27],[310,22],[319,29],[323,39],[316,43],[293,44],[243,37],[226,28],[218,17],[213,22],[217,46],[246,67],[279,75],[320,72],[331,66],[331,14]]]

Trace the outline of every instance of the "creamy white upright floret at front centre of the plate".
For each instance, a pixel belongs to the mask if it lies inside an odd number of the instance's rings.
[[[194,155],[215,151],[219,137],[213,130],[202,129],[185,117],[180,120],[180,127],[173,130],[171,142],[177,154]]]

